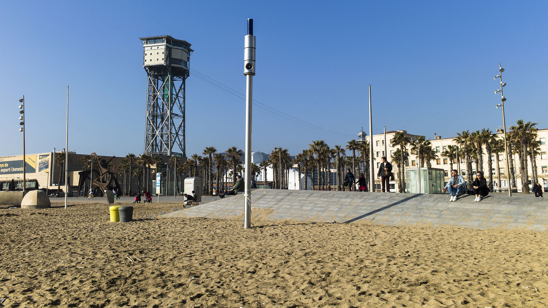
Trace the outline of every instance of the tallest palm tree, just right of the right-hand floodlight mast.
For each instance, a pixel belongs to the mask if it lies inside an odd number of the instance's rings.
[[[528,145],[529,140],[534,138],[533,135],[538,130],[535,127],[538,123],[524,123],[523,119],[518,119],[516,124],[510,127],[510,131],[516,144],[520,145],[518,147],[518,155],[520,156],[521,190],[522,193],[529,193],[529,173],[527,170]]]

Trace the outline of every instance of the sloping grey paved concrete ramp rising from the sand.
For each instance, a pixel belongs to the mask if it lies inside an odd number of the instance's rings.
[[[252,221],[297,220],[393,226],[548,230],[548,200],[533,197],[260,189],[252,192]],[[160,217],[243,219],[243,194]]]

